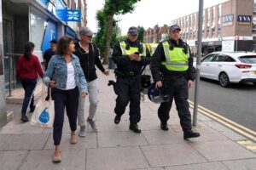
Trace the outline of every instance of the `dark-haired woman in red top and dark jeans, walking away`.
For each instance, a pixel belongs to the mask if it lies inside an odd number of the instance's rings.
[[[27,42],[24,47],[24,54],[20,55],[17,63],[17,74],[25,90],[20,119],[22,122],[29,121],[26,116],[28,105],[30,106],[30,112],[35,110],[33,91],[37,85],[38,74],[42,78],[44,76],[38,57],[32,54],[34,48],[33,42]]]

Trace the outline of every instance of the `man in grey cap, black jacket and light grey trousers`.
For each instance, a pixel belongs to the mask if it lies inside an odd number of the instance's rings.
[[[102,73],[108,76],[109,71],[105,71],[103,68],[102,62],[99,59],[99,51],[96,47],[96,44],[91,42],[93,32],[90,31],[89,27],[81,27],[79,31],[79,36],[81,37],[81,41],[75,43],[76,54],[79,57],[81,67],[84,71],[84,76],[86,81],[88,82],[88,93],[89,93],[89,116],[87,118],[87,122],[90,124],[90,127],[94,131],[97,131],[95,116],[96,116],[96,108],[98,103],[98,81],[96,76],[96,67],[95,65],[102,71]],[[80,126],[79,136],[86,136],[86,124],[84,121],[84,98],[79,98],[79,113],[78,113],[78,121]]]

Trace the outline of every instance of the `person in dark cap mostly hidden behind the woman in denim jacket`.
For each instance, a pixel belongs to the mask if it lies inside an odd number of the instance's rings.
[[[52,39],[50,41],[50,48],[46,49],[46,51],[44,52],[44,69],[45,69],[45,71],[47,70],[49,60],[56,53],[57,42],[58,41],[56,39]],[[47,88],[47,96],[46,96],[45,100],[47,100],[47,101],[49,100],[49,88]]]

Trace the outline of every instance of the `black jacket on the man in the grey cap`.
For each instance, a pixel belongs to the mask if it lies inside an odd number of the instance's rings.
[[[86,78],[87,82],[91,82],[96,80],[96,67],[95,65],[104,72],[105,69],[103,68],[102,62],[99,59],[99,51],[96,47],[96,44],[90,43],[89,46],[89,53],[86,53],[84,51],[84,48],[82,48],[79,45],[79,42],[75,43],[76,51],[73,53],[79,57],[81,67],[84,71],[84,76]]]

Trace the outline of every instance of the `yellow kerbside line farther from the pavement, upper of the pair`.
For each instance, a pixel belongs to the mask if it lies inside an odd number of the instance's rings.
[[[194,103],[192,101],[190,101],[190,100],[189,100],[189,104],[194,105]],[[224,116],[220,116],[218,113],[210,111],[207,108],[202,107],[201,105],[198,105],[198,108],[200,108],[203,111],[207,111],[208,113],[212,114],[213,116],[217,116],[218,118],[223,119],[225,122],[230,122],[231,124],[235,125],[236,127],[240,127],[241,129],[247,131],[247,133],[251,133],[251,134],[256,136],[256,132],[255,131],[253,131],[253,130],[247,128],[247,127],[244,127],[241,124],[233,122],[233,121],[231,121],[230,119],[228,119],[228,118],[226,118]]]

